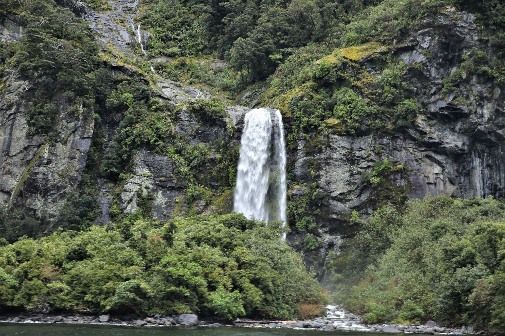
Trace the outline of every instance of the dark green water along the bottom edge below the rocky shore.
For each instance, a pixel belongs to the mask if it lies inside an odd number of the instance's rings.
[[[0,323],[2,336],[371,336],[370,332],[245,327],[135,327],[93,324]],[[385,335],[385,334],[383,334]]]

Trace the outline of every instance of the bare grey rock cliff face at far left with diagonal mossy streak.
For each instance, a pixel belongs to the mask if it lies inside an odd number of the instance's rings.
[[[13,72],[0,97],[0,199],[13,206],[35,210],[51,229],[67,195],[80,183],[91,143],[94,120],[92,109],[81,107],[76,116],[70,104],[58,97],[57,135],[47,141],[32,134],[27,122],[28,98],[33,85]]]

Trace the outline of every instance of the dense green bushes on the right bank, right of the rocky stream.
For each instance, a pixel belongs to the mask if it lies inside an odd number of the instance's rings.
[[[343,271],[351,286],[353,274],[364,276],[346,306],[373,323],[432,319],[501,330],[504,214],[502,201],[445,196],[411,200],[404,214],[379,211]]]

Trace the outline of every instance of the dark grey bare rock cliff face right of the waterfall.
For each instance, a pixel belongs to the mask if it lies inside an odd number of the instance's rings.
[[[327,195],[317,216],[322,249],[311,256],[320,279],[327,251],[338,253],[342,239],[355,232],[348,225],[354,210],[366,219],[380,205],[427,194],[467,198],[505,195],[505,93],[489,76],[477,74],[468,74],[459,82],[456,93],[441,93],[443,79],[461,68],[462,56],[472,48],[492,54],[481,42],[482,31],[474,21],[471,14],[448,9],[436,18],[421,20],[406,41],[387,51],[376,51],[390,53],[407,66],[418,65],[406,75],[410,90],[423,102],[415,126],[395,133],[362,129],[352,136],[330,127],[327,137],[313,134],[310,141],[299,137],[289,153],[292,173],[311,183],[311,171],[316,171],[318,186]],[[377,78],[381,73],[373,56],[371,52],[353,61]],[[246,93],[240,103],[260,106],[261,94]],[[457,100],[459,97],[463,99]],[[381,159],[403,168],[378,186],[364,185],[363,172]],[[300,246],[303,236],[293,234],[288,239]]]

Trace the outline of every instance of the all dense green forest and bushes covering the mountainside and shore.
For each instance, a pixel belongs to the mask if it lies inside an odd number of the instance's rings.
[[[97,13],[112,10],[106,0],[83,3]],[[413,134],[428,110],[425,96],[435,89],[422,62],[407,64],[394,52],[413,44],[409,37],[419,22],[439,15],[463,20],[461,13],[470,13],[482,32],[482,48],[451,59],[449,75],[436,86],[440,100],[475,112],[465,87],[485,80],[505,85],[501,1],[140,5],[134,21],[148,32],[145,48],[129,41],[136,56],[126,57],[97,42],[103,36],[72,1],[0,0],[2,22],[22,27],[22,38],[0,42],[0,94],[20,78],[29,83],[27,134],[43,139],[0,209],[0,309],[292,319],[324,314],[331,302],[367,323],[433,319],[505,330],[505,203],[499,197],[462,192],[408,200],[411,185],[391,181],[412,167],[373,145],[363,151],[377,156],[373,163],[347,169],[356,170],[356,184],[373,197],[338,212],[337,221],[325,215],[334,190],[321,185],[323,160],[316,158],[329,135]],[[137,38],[132,27],[125,29]],[[445,57],[428,49],[422,56]],[[218,65],[201,65],[209,59]],[[212,99],[160,99],[157,77],[198,87]],[[473,77],[478,81],[471,83]],[[286,121],[285,228],[247,220],[229,205],[239,146],[226,108],[249,99],[281,110]],[[218,129],[219,137],[204,143],[181,131],[182,110],[197,120],[190,131]],[[69,140],[58,131],[62,120],[86,115],[93,135],[85,167],[55,216],[16,203],[38,157]],[[300,148],[312,155],[303,174],[294,162]],[[154,214],[156,195],[148,188],[134,190],[136,211],[128,213],[122,203],[143,149],[173,166],[180,194],[169,199],[174,208],[163,218]],[[110,221],[99,226],[103,185],[110,188]],[[198,202],[213,212],[197,212]],[[340,245],[324,243],[328,226]],[[294,238],[282,241],[286,232]],[[318,265],[325,286],[315,280]]]

